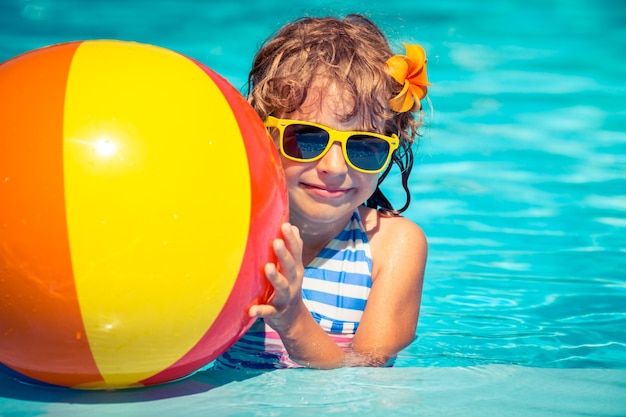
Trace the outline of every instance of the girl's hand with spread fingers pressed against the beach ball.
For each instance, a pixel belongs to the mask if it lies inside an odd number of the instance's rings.
[[[269,304],[250,307],[251,317],[262,317],[277,332],[286,331],[297,320],[298,315],[308,310],[302,301],[302,239],[296,226],[281,225],[282,239],[273,242],[278,265],[265,265],[265,276],[274,286]]]

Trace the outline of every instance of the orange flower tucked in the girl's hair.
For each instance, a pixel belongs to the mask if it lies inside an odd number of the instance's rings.
[[[394,55],[387,60],[391,76],[403,85],[402,91],[389,100],[391,110],[404,113],[419,110],[420,100],[426,97],[428,82],[426,76],[426,52],[419,45],[403,44],[406,55]]]

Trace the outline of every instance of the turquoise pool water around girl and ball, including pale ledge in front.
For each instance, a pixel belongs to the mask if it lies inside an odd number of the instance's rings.
[[[259,43],[286,21],[363,12],[397,51],[424,45],[434,106],[407,213],[430,242],[422,314],[395,368],[203,371],[112,393],[0,375],[0,416],[626,416],[626,8],[361,3],[0,3],[0,60],[61,41],[135,40],[241,89]]]

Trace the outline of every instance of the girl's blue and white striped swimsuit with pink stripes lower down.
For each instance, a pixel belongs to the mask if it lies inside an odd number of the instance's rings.
[[[302,298],[343,349],[350,346],[372,286],[372,255],[358,210],[304,270]],[[278,334],[262,319],[217,358],[215,369],[294,368]]]

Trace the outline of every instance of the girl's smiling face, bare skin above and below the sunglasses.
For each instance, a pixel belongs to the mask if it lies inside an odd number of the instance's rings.
[[[315,85],[314,85],[315,87]],[[361,130],[359,118],[343,121],[350,103],[333,86],[312,88],[302,109],[281,115],[283,118],[326,125],[336,130]],[[376,189],[378,174],[355,171],[346,164],[340,143],[334,143],[321,159],[294,162],[282,158],[292,222],[345,222],[354,209]],[[300,223],[300,224],[298,224]]]

